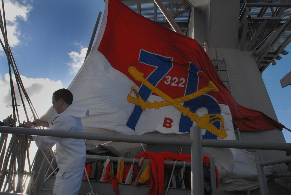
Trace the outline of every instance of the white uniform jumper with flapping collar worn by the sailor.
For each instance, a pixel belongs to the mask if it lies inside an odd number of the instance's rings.
[[[80,117],[89,116],[89,111],[70,105],[63,113],[51,123],[50,130],[82,131]],[[79,172],[84,170],[86,161],[86,146],[83,139],[70,139],[58,137],[33,136],[36,145],[48,149],[56,144],[58,168],[63,172]]]

